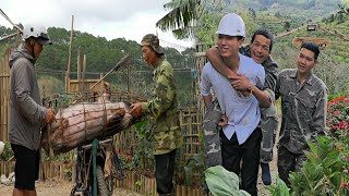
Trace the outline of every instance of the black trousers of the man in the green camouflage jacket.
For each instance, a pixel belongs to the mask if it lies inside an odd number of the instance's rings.
[[[155,176],[157,193],[170,194],[173,187],[176,149],[168,154],[155,155]]]

